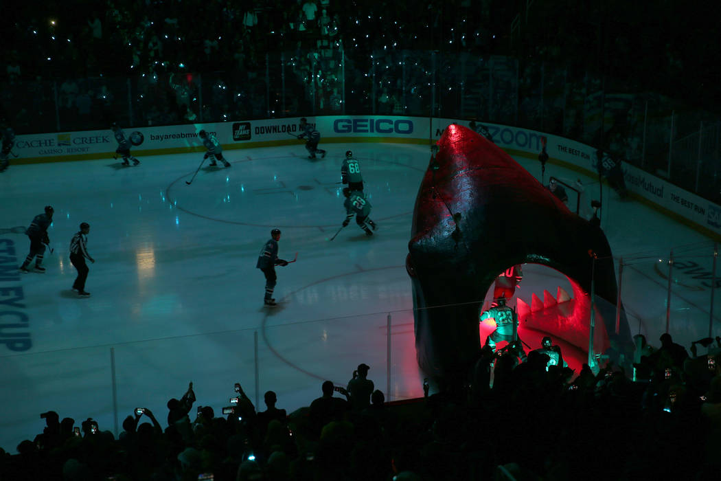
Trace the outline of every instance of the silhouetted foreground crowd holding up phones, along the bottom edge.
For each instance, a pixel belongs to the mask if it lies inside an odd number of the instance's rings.
[[[19,454],[0,455],[12,480],[611,480],[714,479],[721,468],[721,340],[637,336],[626,356],[576,376],[543,349],[486,346],[467,379],[425,398],[386,404],[361,364],[347,387],[331,381],[308,407],[265,410],[240,384],[222,417],[193,411],[190,383],[167,402],[166,423],[138,408],[116,439],[92,419],[43,413]],[[549,353],[557,353],[553,346]],[[635,361],[633,362],[633,357]],[[634,370],[636,381],[629,379]],[[282,405],[282,400],[280,400]],[[146,422],[143,422],[143,421]],[[212,477],[211,477],[212,475]]]

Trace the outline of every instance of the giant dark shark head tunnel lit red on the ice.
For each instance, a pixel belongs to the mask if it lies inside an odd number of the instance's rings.
[[[448,125],[437,145],[415,201],[406,259],[420,368],[440,380],[466,374],[481,348],[485,293],[499,273],[524,263],[565,275],[572,296],[559,288],[556,298],[534,294],[530,306],[519,300],[519,325],[588,353],[593,289],[594,353],[612,338],[632,343],[623,312],[616,334],[616,275],[603,231],[469,128]]]

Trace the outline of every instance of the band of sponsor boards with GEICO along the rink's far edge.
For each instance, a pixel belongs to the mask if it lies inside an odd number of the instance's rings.
[[[204,149],[198,132],[213,133],[224,149],[302,144],[300,118],[241,120],[224,123],[195,123],[164,127],[123,128],[133,142],[134,155],[176,154]],[[468,120],[405,117],[397,115],[334,115],[308,117],[321,133],[320,144],[363,141],[430,144],[441,138],[451,123],[469,126]],[[481,124],[478,124],[481,125]],[[477,128],[478,128],[477,125]],[[549,162],[596,175],[596,149],[568,138],[526,128],[483,123],[492,141],[512,155],[536,158],[544,142]],[[112,157],[117,142],[110,129],[17,136],[14,163],[62,162]],[[721,234],[721,206],[682,190],[670,182],[623,164],[627,189],[649,203],[693,223],[702,230]]]

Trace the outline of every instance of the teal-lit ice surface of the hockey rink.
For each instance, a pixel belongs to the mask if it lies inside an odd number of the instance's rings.
[[[273,390],[291,412],[319,397],[326,379],[345,386],[359,363],[371,366],[368,377],[386,400],[422,396],[404,259],[428,146],[323,147],[328,154],[317,160],[301,144],[226,151],[232,167],[205,164],[192,185],[197,152],[139,156],[138,167],[97,159],[12,165],[1,174],[0,446],[14,453],[42,432],[48,410],[117,433],[135,407],[148,407],[165,425],[167,400],[189,381],[196,406],[216,415],[235,382],[260,410],[262,394]],[[366,237],[351,221],[330,241],[345,218],[340,164],[348,149],[361,162],[379,227]],[[517,160],[541,177],[535,159]],[[585,203],[599,197],[595,179],[554,164],[545,180],[550,175],[580,180]],[[47,273],[21,275],[23,232],[46,205],[55,208]],[[83,221],[96,262],[92,296],[78,299],[68,244]],[[621,290],[632,333],[658,345],[673,249],[671,333],[687,348],[707,336],[712,239],[608,187],[601,226],[626,262]],[[274,227],[283,232],[280,257],[298,257],[277,268],[278,306],[269,308],[255,262]],[[524,275],[516,295],[528,304],[544,289],[567,287],[549,268],[524,265]],[[539,345],[541,333],[519,332]],[[11,342],[29,347],[11,350]]]

